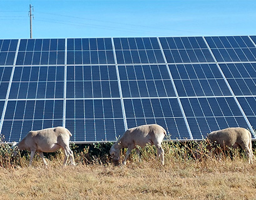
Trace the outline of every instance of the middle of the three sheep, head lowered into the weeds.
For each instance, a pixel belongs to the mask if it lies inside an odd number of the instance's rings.
[[[164,128],[157,124],[148,124],[143,126],[138,126],[135,128],[130,128],[121,138],[113,144],[110,149],[110,155],[113,157],[115,163],[119,162],[120,160],[120,150],[123,148],[128,148],[125,159],[123,164],[126,164],[126,160],[131,153],[132,149],[136,148],[136,145],[141,146],[144,148],[146,144],[155,144],[157,148],[157,157],[161,158],[161,164],[165,164],[164,162],[164,151],[161,148],[161,142],[163,138],[165,138],[166,131]],[[140,151],[136,148],[136,152],[139,153]]]

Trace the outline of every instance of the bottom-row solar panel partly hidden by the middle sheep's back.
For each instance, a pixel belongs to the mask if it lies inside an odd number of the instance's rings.
[[[128,127],[159,124],[173,139],[190,138],[177,99],[125,99],[124,104]]]

